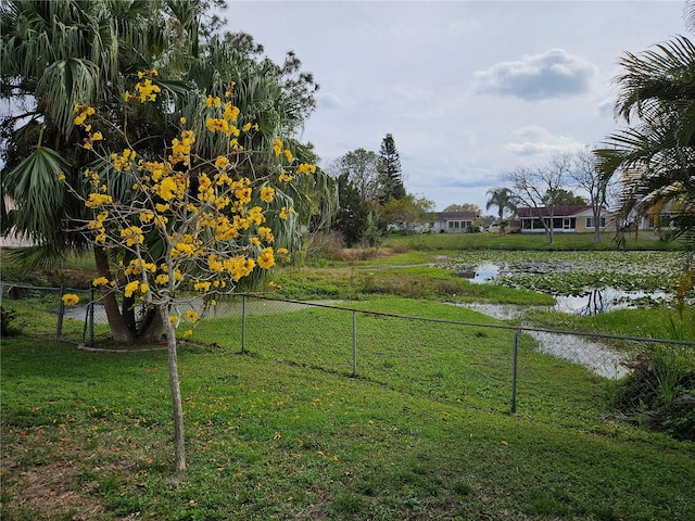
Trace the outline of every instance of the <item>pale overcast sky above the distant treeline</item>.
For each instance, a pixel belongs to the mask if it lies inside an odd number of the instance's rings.
[[[516,167],[595,147],[614,79],[686,31],[684,1],[230,1],[226,30],[281,63],[294,51],[320,89],[302,141],[326,167],[379,152],[387,134],[405,188],[434,209],[472,203]],[[496,213],[492,207],[489,214]]]

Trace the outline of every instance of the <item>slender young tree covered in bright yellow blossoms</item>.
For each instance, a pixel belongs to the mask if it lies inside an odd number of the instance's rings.
[[[124,102],[155,101],[160,93],[155,78],[156,71],[140,73]],[[159,157],[141,155],[125,132],[121,134],[127,147],[109,151],[103,144],[106,128],[100,130],[108,120],[92,107],[75,105],[75,125],[86,136],[84,148],[102,164],[84,171],[89,193],[81,199],[91,218],[79,229],[96,249],[116,258],[99,267],[92,283],[103,294],[118,293],[156,312],[168,345],[179,471],[186,459],[176,328],[182,320],[195,321],[198,314],[178,309],[187,301],[214,302],[215,296],[233,292],[242,279],[289,255],[276,245],[273,224],[293,216],[292,200],[286,195],[289,183],[316,171],[314,165],[299,163],[279,138],[269,151],[250,148],[258,128],[253,115],[241,114],[235,105],[232,87],[224,100],[201,94],[200,119],[181,118],[177,137]],[[195,147],[199,129],[215,140],[214,150],[223,152],[201,155]],[[263,174],[254,170],[258,158]],[[124,185],[127,199],[119,200],[123,190],[112,187]]]

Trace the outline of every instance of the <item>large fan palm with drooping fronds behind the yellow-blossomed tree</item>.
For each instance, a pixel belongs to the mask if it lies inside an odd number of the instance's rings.
[[[170,65],[179,63],[187,45],[198,38],[179,30],[174,39],[173,24],[191,26],[190,18],[175,20],[149,2],[12,0],[0,8],[0,92],[12,109],[1,124],[8,144],[2,191],[16,204],[3,216],[3,228],[14,227],[37,244],[22,252],[28,266],[56,264],[68,252],[87,246],[85,238],[73,231],[75,223],[88,218],[86,208],[58,178],[62,173],[71,186],[84,188],[80,173],[92,162],[73,123],[74,106],[86,103],[121,120],[126,78],[164,58]],[[161,132],[153,130],[166,125],[144,116],[132,115],[131,137],[149,136],[156,147]],[[105,275],[105,252],[99,247],[93,252]],[[103,296],[114,340],[132,342],[137,334],[132,303],[125,301],[122,312],[113,293]]]

